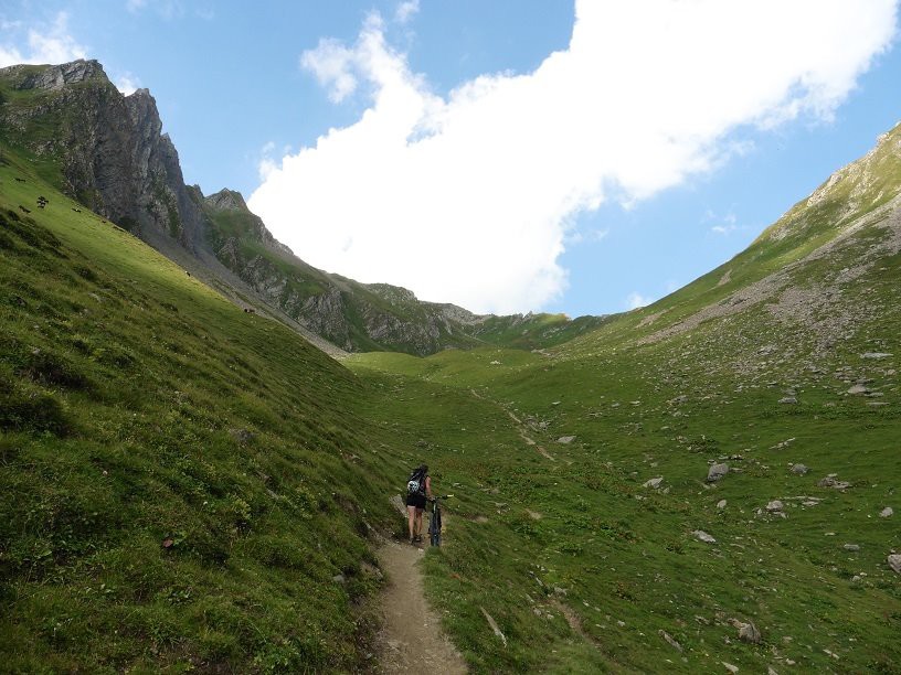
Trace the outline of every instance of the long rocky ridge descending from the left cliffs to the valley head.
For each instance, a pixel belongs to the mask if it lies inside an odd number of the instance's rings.
[[[598,322],[480,317],[420,301],[403,288],[315,269],[278,243],[239,193],[204,197],[186,186],[178,153],[161,130],[149,92],[123,96],[96,61],[0,69],[0,141],[30,153],[51,184],[237,304],[279,318],[330,353],[422,355],[508,339],[537,349]]]

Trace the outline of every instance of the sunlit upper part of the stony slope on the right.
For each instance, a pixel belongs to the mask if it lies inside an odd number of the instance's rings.
[[[849,290],[866,275],[878,276],[879,260],[898,254],[899,208],[901,125],[795,204],[748,249],[651,306],[616,317],[602,333],[654,343],[761,307],[786,321],[855,315],[863,308]],[[837,331],[824,340],[841,335]]]

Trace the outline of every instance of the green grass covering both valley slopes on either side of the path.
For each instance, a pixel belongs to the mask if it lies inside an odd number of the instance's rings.
[[[350,369],[0,152],[7,669],[372,669],[369,535],[427,461],[426,592],[475,672],[899,672],[901,128],[649,308]],[[337,282],[360,331],[420,311]]]

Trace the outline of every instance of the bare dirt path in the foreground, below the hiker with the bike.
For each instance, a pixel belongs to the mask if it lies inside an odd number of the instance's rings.
[[[441,617],[425,601],[420,560],[425,550],[386,540],[379,565],[388,575],[382,629],[375,639],[381,672],[467,673],[463,657],[441,631]]]

